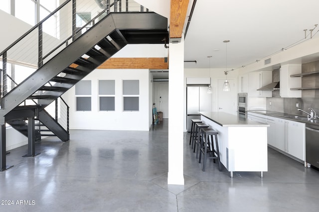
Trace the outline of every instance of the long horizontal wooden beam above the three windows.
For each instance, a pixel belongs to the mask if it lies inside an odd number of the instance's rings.
[[[164,58],[110,58],[98,69],[168,69]]]

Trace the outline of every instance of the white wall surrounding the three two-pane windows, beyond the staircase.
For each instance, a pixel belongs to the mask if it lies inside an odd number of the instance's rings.
[[[99,111],[98,80],[115,80],[115,111]],[[122,80],[140,80],[139,111],[123,112]],[[70,106],[70,129],[73,130],[136,130],[150,129],[149,70],[92,71],[83,80],[92,80],[92,111],[76,111],[74,86],[64,95]]]

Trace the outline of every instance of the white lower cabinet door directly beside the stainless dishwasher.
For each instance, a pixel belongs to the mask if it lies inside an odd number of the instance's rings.
[[[305,160],[305,124],[286,121],[287,153]]]

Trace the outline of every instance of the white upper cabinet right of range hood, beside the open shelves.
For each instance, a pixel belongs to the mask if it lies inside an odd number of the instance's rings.
[[[297,73],[301,73],[301,64],[287,64],[280,68],[281,97],[301,97],[301,90],[290,90],[290,88],[301,87],[301,77],[290,77]]]

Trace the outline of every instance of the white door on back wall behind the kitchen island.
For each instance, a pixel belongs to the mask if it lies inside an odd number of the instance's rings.
[[[237,114],[237,89],[235,89],[235,80],[228,80],[230,91],[223,91],[224,79],[218,79],[218,111]]]

